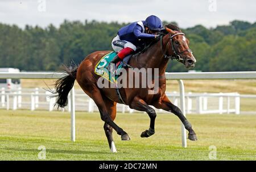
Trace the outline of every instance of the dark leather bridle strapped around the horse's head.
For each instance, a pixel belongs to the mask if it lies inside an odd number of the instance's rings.
[[[184,52],[192,53],[192,51],[191,51],[191,49],[186,49],[185,51],[179,52],[179,53],[176,51],[176,49],[174,47],[173,38],[174,38],[174,36],[177,36],[177,35],[185,35],[185,34],[184,33],[175,33],[174,35],[170,34],[170,39],[168,40],[168,43],[166,44],[166,49],[165,50],[163,50],[163,35],[161,35],[160,36],[161,49],[162,49],[164,58],[171,58],[171,60],[176,59],[177,61],[182,61],[184,63],[184,59],[181,58],[180,55],[183,54]],[[166,54],[167,48],[168,48],[168,45],[170,44],[170,42],[172,44],[172,52],[174,52],[174,54],[172,54],[171,56]]]

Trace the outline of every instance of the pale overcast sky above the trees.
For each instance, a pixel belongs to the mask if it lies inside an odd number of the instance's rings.
[[[187,28],[215,27],[234,19],[254,23],[255,0],[0,0],[0,23],[59,26],[64,19],[134,22],[154,14]]]

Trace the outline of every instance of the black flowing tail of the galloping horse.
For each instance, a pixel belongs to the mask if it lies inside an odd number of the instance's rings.
[[[58,79],[55,82],[55,94],[57,94],[57,100],[55,105],[57,104],[59,107],[65,107],[68,105],[68,93],[72,89],[75,80],[76,80],[76,73],[77,73],[77,67],[75,69],[64,69],[65,73],[68,75],[65,77],[62,77]]]

